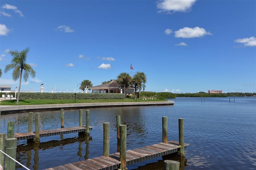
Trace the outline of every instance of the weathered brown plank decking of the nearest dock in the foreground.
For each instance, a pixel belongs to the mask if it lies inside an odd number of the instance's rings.
[[[189,144],[184,144],[184,148]],[[126,165],[136,164],[145,160],[157,158],[178,152],[180,146],[176,141],[167,143],[152,144],[141,148],[126,150]],[[70,164],[48,168],[46,170],[116,170],[121,162],[119,161],[119,152],[110,154],[109,157],[100,156],[97,158],[82,160]]]

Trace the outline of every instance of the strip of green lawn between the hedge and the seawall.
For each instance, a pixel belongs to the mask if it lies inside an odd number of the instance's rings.
[[[19,100],[18,105],[47,105],[47,104],[68,104],[68,103],[108,103],[108,102],[142,102],[142,101],[166,101],[160,99],[25,99]],[[16,105],[16,100],[4,100],[0,105]]]

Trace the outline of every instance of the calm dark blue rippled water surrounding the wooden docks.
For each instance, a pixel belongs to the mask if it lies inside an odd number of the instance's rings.
[[[173,106],[90,109],[90,139],[78,134],[40,138],[39,146],[18,141],[17,160],[42,170],[103,155],[103,123],[110,123],[110,153],[117,152],[116,115],[127,125],[127,149],[162,142],[162,117],[168,117],[168,140],[178,141],[178,119],[184,119],[185,170],[256,169],[256,97],[177,98]],[[85,111],[84,120],[85,120]],[[40,129],[60,128],[60,111],[40,112]],[[78,126],[79,111],[65,110],[64,127]],[[1,115],[0,132],[8,121],[15,132],[28,131],[28,113]],[[134,164],[128,170],[161,170],[161,157]],[[16,169],[22,170],[17,164]]]

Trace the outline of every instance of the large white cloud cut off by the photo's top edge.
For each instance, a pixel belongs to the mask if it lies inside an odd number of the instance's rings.
[[[156,7],[159,12],[187,12],[196,0],[160,0]]]

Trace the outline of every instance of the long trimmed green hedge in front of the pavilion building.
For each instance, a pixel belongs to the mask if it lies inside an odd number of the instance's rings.
[[[121,93],[76,93],[76,99],[124,99]],[[20,99],[75,99],[75,93],[20,93]]]

